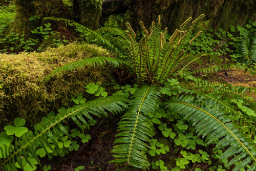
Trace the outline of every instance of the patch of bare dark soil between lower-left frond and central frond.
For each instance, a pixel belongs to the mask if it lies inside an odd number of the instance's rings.
[[[114,159],[110,151],[113,149],[118,121],[118,117],[112,121],[108,118],[99,120],[98,125],[91,127],[89,142],[80,144],[78,151],[51,160],[45,158],[41,161],[42,166],[51,165],[51,170],[57,171],[73,171],[78,166],[83,166],[83,170],[115,170],[115,164],[108,162]]]

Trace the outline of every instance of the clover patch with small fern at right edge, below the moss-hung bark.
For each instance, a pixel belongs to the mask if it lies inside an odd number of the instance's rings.
[[[253,33],[255,32],[255,26],[255,22],[249,22],[249,24],[244,27],[230,26],[230,31],[224,31],[220,28],[217,31],[208,29],[206,32],[203,32],[201,36],[196,38],[198,41],[191,42],[191,46],[187,47],[187,49],[193,54],[205,52],[218,56],[229,55],[232,57],[232,61],[238,60],[244,62],[247,60],[247,63],[251,63],[253,57],[249,58],[249,56],[253,56],[254,54]],[[192,34],[190,38],[193,36]],[[250,49],[252,51],[251,55]],[[251,59],[250,62],[248,62],[249,59]]]

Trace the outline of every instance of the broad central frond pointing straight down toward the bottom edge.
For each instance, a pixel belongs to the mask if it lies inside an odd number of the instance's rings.
[[[147,152],[147,144],[153,136],[153,123],[146,116],[155,114],[158,110],[160,93],[157,87],[142,87],[138,89],[131,98],[128,111],[122,116],[118,123],[118,143],[112,149],[115,160],[111,162],[126,162],[129,165],[145,168],[148,164],[147,158],[141,152]]]

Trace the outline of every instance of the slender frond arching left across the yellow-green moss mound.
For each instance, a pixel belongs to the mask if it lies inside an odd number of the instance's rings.
[[[73,71],[78,68],[82,68],[84,66],[100,66],[100,65],[113,65],[114,67],[119,67],[120,65],[125,65],[128,69],[132,71],[132,73],[135,73],[133,66],[131,66],[129,63],[115,59],[112,57],[107,56],[98,56],[98,57],[92,57],[92,58],[86,58],[82,60],[77,60],[75,62],[67,63],[66,65],[63,65],[62,67],[54,69],[50,74],[48,74],[45,77],[45,81],[48,81],[51,77],[53,77],[56,74],[59,74],[63,71]]]

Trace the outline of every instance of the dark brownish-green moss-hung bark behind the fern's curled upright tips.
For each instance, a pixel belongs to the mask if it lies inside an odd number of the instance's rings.
[[[133,25],[138,29],[141,20],[150,27],[151,20],[162,15],[162,26],[172,32],[190,16],[196,18],[205,14],[209,20],[208,28],[227,30],[230,25],[244,25],[248,20],[256,20],[256,4],[250,1],[234,0],[135,0],[131,11],[134,13]]]

